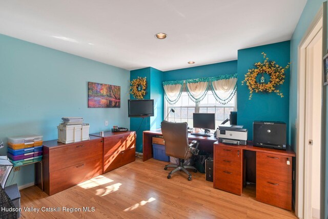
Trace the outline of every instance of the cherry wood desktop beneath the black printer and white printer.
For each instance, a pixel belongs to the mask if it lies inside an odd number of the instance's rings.
[[[293,151],[291,146],[287,146],[286,150],[271,149],[271,148],[260,148],[260,147],[253,146],[253,142],[251,142],[251,141],[248,142],[248,145],[229,145],[229,144],[223,144],[223,143],[215,142],[214,147],[215,146],[224,146],[224,147],[238,148],[238,149],[243,149],[243,150],[248,150],[248,151],[257,151],[257,152],[264,152],[264,153],[271,153],[271,154],[278,154],[278,155],[296,157],[296,154]]]

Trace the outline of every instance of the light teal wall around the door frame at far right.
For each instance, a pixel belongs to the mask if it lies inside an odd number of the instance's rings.
[[[291,75],[290,75],[290,96],[293,97],[290,99],[290,142],[293,146],[295,152],[297,150],[296,148],[296,126],[295,121],[297,118],[297,82],[298,82],[298,46],[301,42],[306,30],[308,30],[309,26],[311,25],[314,17],[316,16],[317,12],[319,11],[320,7],[322,6],[322,3],[325,1],[322,0],[309,0],[302,12],[302,15],[298,21],[298,24],[295,28],[295,31],[293,33],[293,36],[291,38]],[[324,9],[324,11],[327,9]],[[325,24],[327,24],[327,21],[324,21]],[[323,34],[327,36],[327,30],[328,28],[326,26],[323,26]],[[327,51],[327,48],[324,48],[324,51]],[[328,141],[326,139],[326,136],[328,136],[327,132],[327,114],[328,114],[328,106],[326,98],[328,96],[327,93],[327,86],[323,87],[323,129],[322,129],[322,136],[323,141],[321,144],[322,150],[321,150],[321,206],[320,206],[320,217],[321,218],[328,218],[328,150],[326,148],[328,147]],[[326,134],[323,134],[326,133]]]

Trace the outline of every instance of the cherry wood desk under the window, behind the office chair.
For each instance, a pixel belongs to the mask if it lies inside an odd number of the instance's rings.
[[[147,161],[153,157],[153,146],[152,146],[152,137],[155,135],[162,135],[161,130],[150,130],[144,131],[142,136],[142,161]],[[199,149],[204,150],[209,153],[213,153],[213,144],[216,142],[216,137],[203,137],[198,135],[192,135],[188,133],[188,140],[191,142],[197,140],[200,142]]]

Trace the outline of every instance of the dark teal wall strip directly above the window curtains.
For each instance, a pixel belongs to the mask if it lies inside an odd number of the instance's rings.
[[[165,71],[163,73],[163,81],[176,81],[200,77],[215,77],[222,74],[235,73],[237,73],[237,60]]]

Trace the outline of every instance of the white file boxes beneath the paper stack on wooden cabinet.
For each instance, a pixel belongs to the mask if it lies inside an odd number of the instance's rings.
[[[58,142],[69,144],[89,140],[89,125],[59,125]]]

